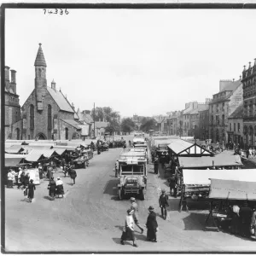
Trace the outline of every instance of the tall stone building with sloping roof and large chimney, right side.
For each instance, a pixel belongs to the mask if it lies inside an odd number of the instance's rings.
[[[209,130],[213,143],[228,143],[228,118],[242,102],[241,79],[220,80],[219,91],[209,102]]]

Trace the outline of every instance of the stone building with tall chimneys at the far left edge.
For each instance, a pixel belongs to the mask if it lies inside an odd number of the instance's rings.
[[[10,70],[11,79],[9,79],[9,67],[4,68],[4,136],[5,139],[21,139],[21,113],[20,99],[16,92],[16,71]]]

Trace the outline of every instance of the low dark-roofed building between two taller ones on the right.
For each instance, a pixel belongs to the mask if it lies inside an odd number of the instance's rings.
[[[229,125],[227,129],[228,142],[239,144],[243,148],[243,104],[239,105],[236,110],[230,114]]]

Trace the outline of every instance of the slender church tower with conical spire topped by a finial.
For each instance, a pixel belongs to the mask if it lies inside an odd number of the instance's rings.
[[[38,111],[43,111],[44,96],[47,87],[46,62],[41,45],[39,44],[38,55],[35,61],[35,92]]]

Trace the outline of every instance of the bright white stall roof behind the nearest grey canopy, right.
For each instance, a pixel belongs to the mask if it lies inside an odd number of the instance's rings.
[[[210,178],[256,182],[256,169],[191,170],[183,169],[183,184],[210,184]]]

